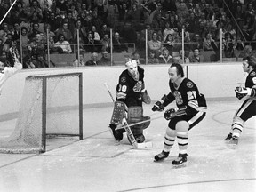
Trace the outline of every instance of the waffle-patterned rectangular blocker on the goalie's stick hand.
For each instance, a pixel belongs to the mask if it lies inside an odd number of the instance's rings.
[[[124,117],[125,103],[122,101],[115,101],[110,124],[122,124],[122,120]]]

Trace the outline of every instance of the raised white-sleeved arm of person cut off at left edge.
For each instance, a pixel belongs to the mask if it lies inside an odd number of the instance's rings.
[[[0,94],[5,81],[22,69],[22,64],[19,61],[19,55],[16,52],[12,52],[12,48],[10,49],[10,53],[12,55],[12,60],[14,61],[13,67],[4,67],[4,63],[0,61]]]

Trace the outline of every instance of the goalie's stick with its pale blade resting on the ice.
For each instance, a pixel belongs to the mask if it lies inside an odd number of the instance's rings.
[[[115,103],[116,101],[114,100],[114,97],[113,97],[112,93],[110,92],[110,90],[108,88],[108,84],[105,83],[104,85],[107,88],[108,94],[111,97],[112,101]],[[152,142],[138,143],[137,140],[135,140],[134,135],[132,134],[132,130],[131,130],[131,128],[130,128],[130,126],[127,123],[125,118],[123,118],[122,124],[123,125],[121,127],[124,128],[124,130],[125,130],[125,132],[127,134],[127,137],[130,140],[133,148],[135,148],[135,149],[137,149],[137,148],[152,148],[152,146],[153,146]],[[108,128],[111,129],[109,126],[108,126]]]

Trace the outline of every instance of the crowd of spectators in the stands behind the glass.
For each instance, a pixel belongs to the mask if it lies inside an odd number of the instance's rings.
[[[1,0],[1,19],[11,5]],[[240,58],[256,52],[255,7],[256,0],[18,0],[0,26],[0,60],[12,66],[12,47],[24,68],[48,68],[48,49],[77,55],[79,41],[81,51],[92,53],[92,65],[95,60],[110,65],[110,28],[113,52],[129,52],[128,44],[135,44],[133,57],[139,60],[148,44],[148,63],[183,62],[183,54],[184,62],[204,62],[201,52],[220,50],[224,57]],[[91,65],[80,59],[74,66]]]

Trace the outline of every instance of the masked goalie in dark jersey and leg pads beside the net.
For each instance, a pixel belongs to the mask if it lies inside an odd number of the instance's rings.
[[[116,85],[116,101],[122,101],[127,107],[128,124],[138,123],[148,120],[145,124],[131,126],[132,134],[138,143],[145,141],[143,129],[150,124],[150,117],[143,116],[142,102],[149,104],[151,102],[144,83],[144,69],[138,66],[136,60],[126,58],[126,69],[119,76]],[[116,140],[123,140],[124,129],[116,129],[116,124],[110,124],[110,128]]]

